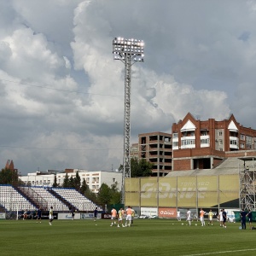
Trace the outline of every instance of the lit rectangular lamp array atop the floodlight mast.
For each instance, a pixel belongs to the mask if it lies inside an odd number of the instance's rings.
[[[113,59],[125,60],[127,55],[131,55],[132,61],[144,61],[144,42],[137,39],[114,38],[113,39]]]

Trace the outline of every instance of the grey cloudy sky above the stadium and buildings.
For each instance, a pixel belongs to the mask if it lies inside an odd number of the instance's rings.
[[[255,24],[254,0],[0,0],[1,168],[119,168],[116,37],[145,43],[131,68],[131,143],[188,112],[256,129]]]

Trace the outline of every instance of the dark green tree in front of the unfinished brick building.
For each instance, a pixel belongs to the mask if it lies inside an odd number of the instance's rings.
[[[145,159],[131,158],[131,177],[149,177],[152,175],[153,166]]]

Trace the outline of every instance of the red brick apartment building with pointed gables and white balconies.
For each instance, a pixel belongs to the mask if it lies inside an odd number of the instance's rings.
[[[229,119],[201,121],[187,113],[172,125],[172,171],[212,169],[227,157],[256,155],[256,130]]]

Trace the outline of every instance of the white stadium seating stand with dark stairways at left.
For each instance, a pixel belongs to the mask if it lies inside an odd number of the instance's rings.
[[[82,212],[92,212],[98,207],[76,189],[44,186],[22,186],[15,189],[11,185],[0,185],[0,207],[5,211],[35,211],[36,205],[41,207],[42,201],[45,210],[53,207],[54,211],[58,212],[69,211],[69,207],[75,207]],[[98,210],[102,211],[102,208],[98,207]]]

